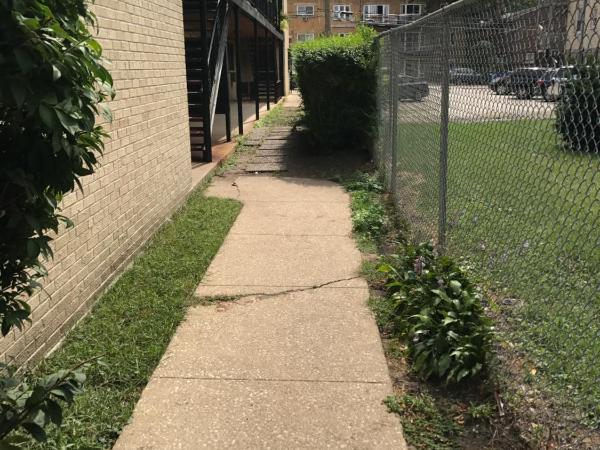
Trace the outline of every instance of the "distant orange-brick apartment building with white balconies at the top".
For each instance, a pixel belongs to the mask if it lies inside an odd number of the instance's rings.
[[[288,0],[290,42],[314,39],[327,34],[327,28],[330,34],[343,36],[359,23],[380,30],[407,24],[440,4],[439,0]]]

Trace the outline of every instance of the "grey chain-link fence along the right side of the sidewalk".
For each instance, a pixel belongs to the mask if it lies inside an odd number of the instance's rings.
[[[486,286],[523,396],[596,429],[599,22],[600,0],[463,0],[382,34],[375,152],[410,239]]]

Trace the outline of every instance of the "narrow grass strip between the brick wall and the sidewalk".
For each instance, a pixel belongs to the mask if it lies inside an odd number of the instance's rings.
[[[133,266],[99,299],[40,372],[102,356],[44,449],[110,448],[163,355],[240,204],[191,194]]]

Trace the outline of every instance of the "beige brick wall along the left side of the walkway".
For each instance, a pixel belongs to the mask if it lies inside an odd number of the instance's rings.
[[[191,186],[181,0],[97,0],[94,10],[117,90],[111,139],[84,192],[65,198],[75,228],[54,244],[32,325],[0,342],[17,364],[56,346]]]

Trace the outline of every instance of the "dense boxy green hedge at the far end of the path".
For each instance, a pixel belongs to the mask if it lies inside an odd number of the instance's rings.
[[[332,148],[369,143],[376,107],[375,36],[365,27],[293,46],[305,121],[317,143]]]

